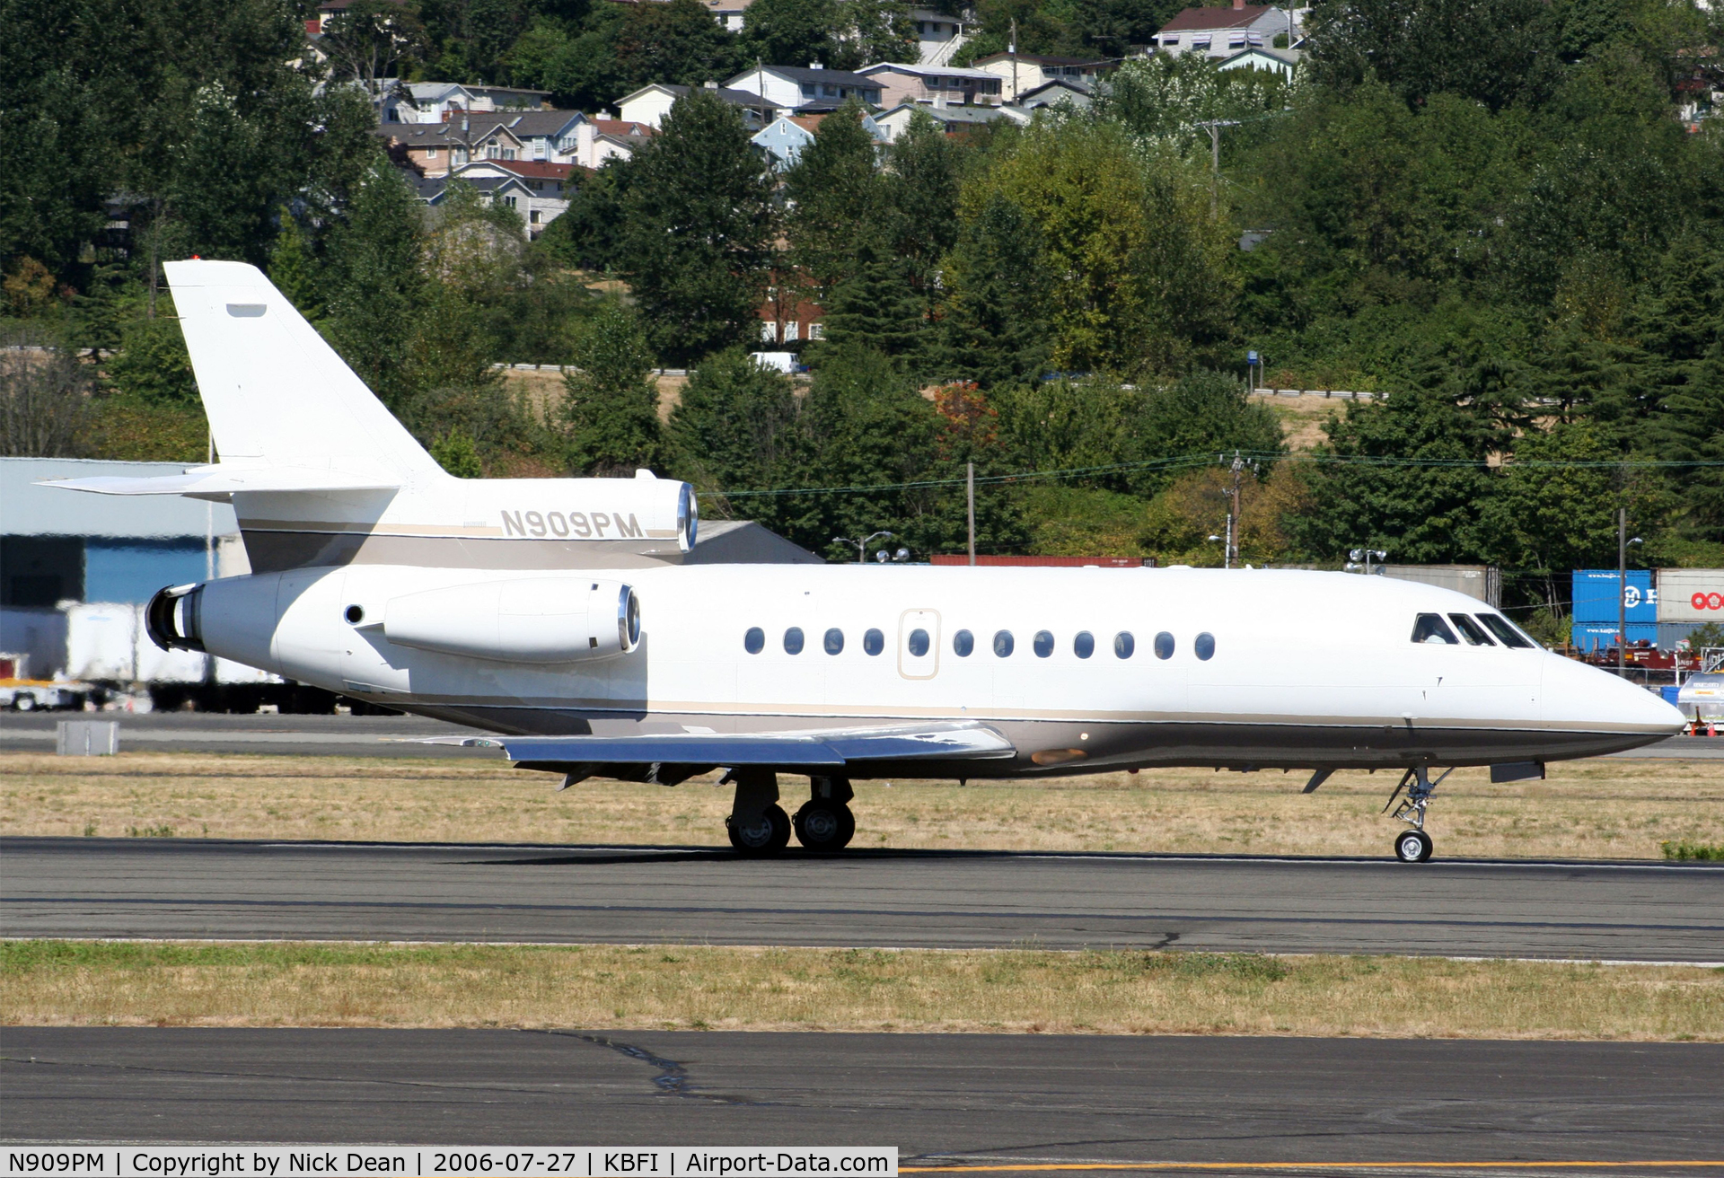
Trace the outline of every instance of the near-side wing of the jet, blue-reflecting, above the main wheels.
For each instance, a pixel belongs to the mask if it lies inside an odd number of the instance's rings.
[[[722,766],[841,773],[881,761],[991,761],[1017,755],[1012,742],[978,723],[890,724],[788,733],[662,733],[641,736],[490,736],[522,768],[624,781],[679,781]],[[464,743],[469,743],[464,742]]]

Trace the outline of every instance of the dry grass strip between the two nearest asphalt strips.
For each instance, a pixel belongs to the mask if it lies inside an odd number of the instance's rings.
[[[0,942],[0,1024],[1724,1040],[1724,969],[1190,952]]]

